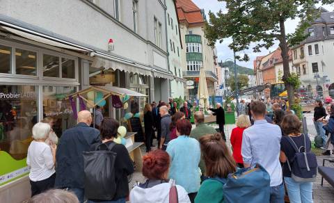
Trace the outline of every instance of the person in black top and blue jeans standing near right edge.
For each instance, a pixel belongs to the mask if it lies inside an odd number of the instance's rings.
[[[326,118],[327,113],[326,110],[322,104],[322,101],[320,99],[318,99],[317,101],[315,101],[315,113],[313,116],[313,122],[315,123],[315,129],[317,130],[317,135],[321,136],[322,140],[323,140],[323,145],[321,147],[321,149],[324,149],[324,146],[326,145],[326,134],[325,134],[325,130],[324,130],[324,124],[322,123],[322,121]]]

